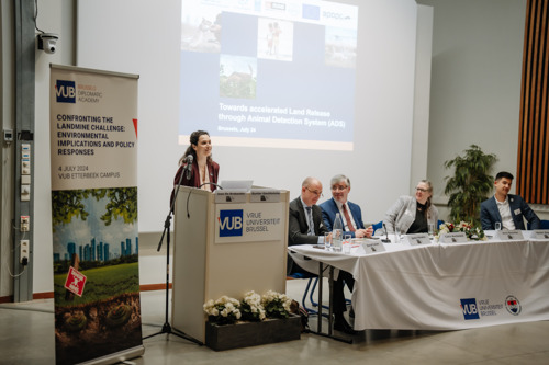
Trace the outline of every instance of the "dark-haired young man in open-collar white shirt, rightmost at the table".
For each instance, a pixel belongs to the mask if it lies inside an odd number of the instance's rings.
[[[495,175],[495,194],[481,204],[482,229],[495,229],[495,223],[501,221],[503,229],[525,230],[524,219],[528,220],[531,229],[539,229],[540,221],[536,213],[518,195],[508,194],[513,175],[502,171]]]

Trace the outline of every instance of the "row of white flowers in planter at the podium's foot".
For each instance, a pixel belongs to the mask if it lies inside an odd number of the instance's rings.
[[[255,292],[247,292],[244,299],[237,300],[222,296],[217,300],[210,299],[203,308],[208,320],[217,324],[233,324],[238,320],[262,321],[266,318],[290,317],[292,299],[285,294],[269,290],[262,297]]]

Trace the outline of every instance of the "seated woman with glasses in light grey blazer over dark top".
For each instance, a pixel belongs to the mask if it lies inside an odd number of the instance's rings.
[[[422,180],[415,189],[415,196],[403,195],[385,213],[383,224],[388,232],[395,228],[403,233],[426,233],[429,224],[436,227],[438,209],[432,204],[433,185],[427,180]]]

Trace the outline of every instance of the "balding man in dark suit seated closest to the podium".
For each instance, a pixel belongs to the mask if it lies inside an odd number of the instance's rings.
[[[315,178],[306,178],[301,185],[301,196],[290,202],[288,246],[316,244],[324,242],[324,233],[329,232],[322,220],[321,207],[316,205],[322,196],[322,183]],[[288,274],[303,273],[291,258],[288,258]],[[339,271],[334,281],[334,329],[345,333],[356,333],[344,318],[347,310],[344,295],[344,283],[352,290],[355,283],[352,275]]]

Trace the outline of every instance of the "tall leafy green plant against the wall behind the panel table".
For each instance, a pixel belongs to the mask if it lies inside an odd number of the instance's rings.
[[[458,156],[444,164],[446,169],[455,169],[453,176],[445,178],[445,194],[449,196],[452,221],[464,220],[479,225],[480,205],[494,186],[494,179],[489,172],[497,157],[484,153],[475,145],[463,152],[464,156]]]

